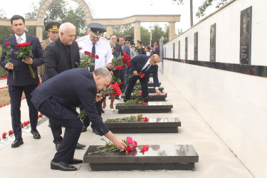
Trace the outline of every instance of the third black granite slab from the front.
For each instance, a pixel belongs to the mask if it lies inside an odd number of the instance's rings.
[[[148,102],[145,105],[125,105],[117,103],[116,109],[120,113],[162,113],[171,112],[173,105],[169,102]]]

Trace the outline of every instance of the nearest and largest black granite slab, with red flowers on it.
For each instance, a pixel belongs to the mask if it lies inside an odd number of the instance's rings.
[[[99,152],[99,145],[90,145],[83,156],[91,171],[125,170],[192,170],[199,162],[199,155],[193,145],[148,145],[147,152]]]

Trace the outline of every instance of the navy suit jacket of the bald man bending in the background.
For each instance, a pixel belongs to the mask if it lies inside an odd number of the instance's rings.
[[[142,68],[145,66],[147,61],[150,59],[150,56],[146,56],[143,54],[140,54],[138,56],[135,56],[130,61],[131,66],[129,73],[132,74],[133,71],[137,70],[137,73],[140,73],[142,71]],[[150,73],[153,74],[153,81],[154,81],[154,87],[159,87],[159,79],[157,78],[157,70],[159,66],[150,66],[150,68],[147,71],[142,71],[142,73],[145,73],[145,80],[149,81]]]

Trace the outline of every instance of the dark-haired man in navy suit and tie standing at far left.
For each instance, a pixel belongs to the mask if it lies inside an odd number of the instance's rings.
[[[22,16],[15,15],[11,18],[11,28],[15,35],[4,40],[3,48],[6,48],[6,43],[10,43],[12,49],[11,61],[5,63],[6,53],[1,55],[1,66],[9,71],[7,78],[7,85],[9,85],[9,95],[11,101],[11,119],[14,135],[16,137],[15,141],[12,143],[11,147],[19,147],[23,144],[21,137],[21,95],[24,91],[26,95],[26,100],[29,108],[29,117],[31,122],[31,133],[33,138],[40,139],[41,136],[36,130],[38,122],[38,110],[34,108],[31,103],[31,92],[38,86],[39,78],[37,74],[37,66],[43,64],[43,51],[41,48],[40,41],[36,36],[31,36],[24,33],[26,28],[25,19]],[[19,49],[16,46],[19,43],[29,42],[31,44],[31,51],[33,56],[28,58],[27,61],[22,62],[22,58],[17,58],[16,51]],[[36,74],[36,78],[32,78],[28,65],[33,67],[33,71]],[[13,77],[14,71],[14,77]]]

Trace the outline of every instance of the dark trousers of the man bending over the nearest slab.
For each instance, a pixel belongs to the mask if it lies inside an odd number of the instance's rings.
[[[53,122],[66,127],[63,140],[53,160],[56,162],[70,162],[73,159],[75,147],[83,128],[83,122],[80,121],[78,113],[61,105],[52,97],[45,100],[38,110]]]

